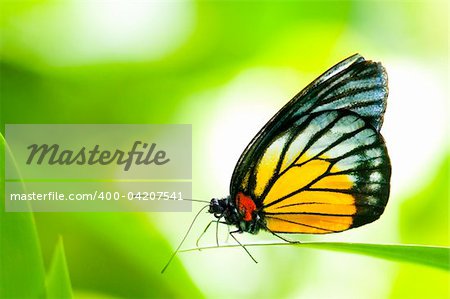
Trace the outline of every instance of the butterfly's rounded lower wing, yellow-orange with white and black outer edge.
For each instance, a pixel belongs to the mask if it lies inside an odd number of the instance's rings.
[[[331,233],[380,217],[391,167],[381,135],[348,110],[313,113],[274,138],[254,194],[273,232]]]

